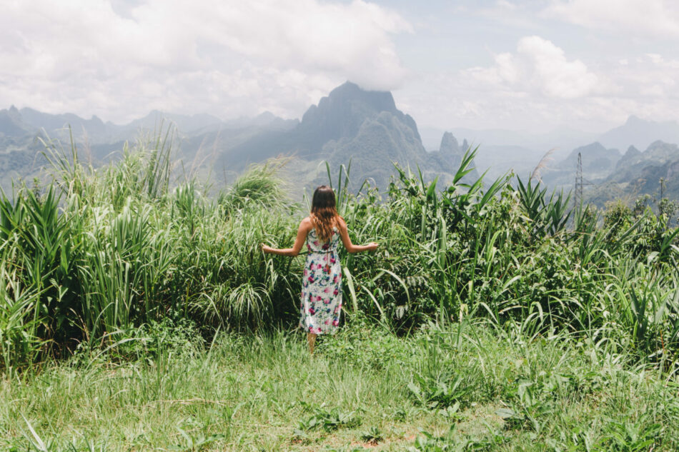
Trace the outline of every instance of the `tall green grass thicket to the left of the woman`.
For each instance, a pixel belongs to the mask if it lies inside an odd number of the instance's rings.
[[[252,328],[292,311],[297,278],[259,251],[294,234],[272,166],[212,203],[194,180],[168,191],[171,143],[168,130],[126,145],[122,161],[96,171],[74,147],[49,143],[56,185],[0,196],[6,371],[82,341],[109,346],[169,312],[204,328]]]

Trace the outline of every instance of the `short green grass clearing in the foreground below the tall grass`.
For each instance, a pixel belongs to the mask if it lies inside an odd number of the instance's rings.
[[[562,334],[452,325],[398,338],[357,321],[309,356],[301,333],[169,348],[147,333],[5,377],[0,449],[679,448],[675,381]]]

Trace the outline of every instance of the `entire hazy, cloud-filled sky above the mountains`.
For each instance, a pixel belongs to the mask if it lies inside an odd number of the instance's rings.
[[[674,0],[1,0],[0,108],[299,118],[344,82],[420,126],[679,120]]]

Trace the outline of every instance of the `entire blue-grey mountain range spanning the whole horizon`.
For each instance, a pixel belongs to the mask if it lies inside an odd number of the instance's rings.
[[[292,156],[294,161],[290,179],[294,179],[296,188],[327,181],[324,171],[319,170],[321,167],[324,169],[323,161],[329,162],[334,171],[340,165],[351,162],[354,188],[369,179],[384,189],[393,174],[392,164],[410,166],[413,171],[417,167],[425,178],[431,180],[438,176],[440,183],[446,184],[457,170],[462,154],[470,146],[467,138],[475,140],[472,146],[480,144],[477,161],[482,170],[488,169],[490,179],[510,169],[525,177],[531,174],[547,151],[540,146],[547,146],[550,140],[570,143],[578,137],[596,137],[595,134],[577,131],[569,137],[570,132],[563,129],[529,140],[523,132],[450,129],[440,133],[436,148],[432,143],[438,132],[427,129],[430,151],[426,151],[415,119],[397,108],[390,92],[366,91],[349,81],[330,91],[317,104],[309,106],[301,120],[281,119],[264,112],[254,118],[222,121],[209,114],[189,116],[154,110],[143,118],[118,125],[104,122],[97,116],[83,119],[74,114],[46,114],[11,106],[0,110],[0,176],[4,175],[1,182],[6,188],[8,174],[12,177],[34,174],[35,156],[40,150],[34,137],[42,129],[50,137],[67,143],[69,130],[64,128],[70,126],[74,139],[79,144],[86,144],[88,155],[96,166],[119,158],[119,152],[115,151],[122,149],[124,141],[136,139],[142,130],[153,132],[163,122],[177,125],[179,151],[176,157],[184,162],[193,162],[191,171],[197,169],[204,175],[217,175],[214,182],[222,178],[231,181],[248,164],[286,155]],[[459,132],[465,130],[460,135]],[[462,144],[454,134],[465,137]],[[655,139],[650,146],[638,145],[652,136]],[[658,136],[665,139],[658,141]],[[484,139],[490,140],[491,144],[484,144]],[[526,146],[532,146],[532,149],[501,144],[502,139],[525,139]],[[625,124],[600,134],[598,139],[586,146],[574,146],[568,153],[564,149],[557,150],[552,156],[557,163],[547,164],[542,171],[542,180],[552,188],[573,189],[580,154],[586,180],[609,187],[614,184],[618,188],[635,186],[640,190],[650,190],[655,184],[650,179],[656,174],[665,174],[663,165],[675,167],[675,148],[668,144],[670,142],[679,143],[677,123],[645,121],[630,116]],[[647,150],[642,152],[639,149]],[[478,171],[472,171],[465,181],[475,179],[478,174]],[[679,177],[672,171],[666,176]],[[648,183],[630,182],[641,179]],[[592,189],[595,190],[595,187]]]

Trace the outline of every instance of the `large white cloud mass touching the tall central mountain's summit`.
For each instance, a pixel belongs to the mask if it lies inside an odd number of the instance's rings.
[[[0,107],[297,117],[347,79],[394,89],[406,75],[392,35],[410,24],[362,0],[111,1],[2,2]]]

